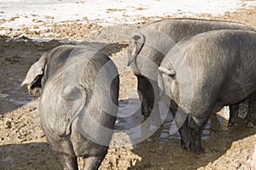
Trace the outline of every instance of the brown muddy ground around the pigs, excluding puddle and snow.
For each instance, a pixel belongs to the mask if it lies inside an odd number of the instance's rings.
[[[256,28],[256,8],[215,18],[208,14],[199,17],[239,21]],[[61,163],[49,148],[40,127],[38,99],[29,96],[26,88],[20,88],[20,82],[32,63],[61,43],[74,43],[81,39],[95,42],[119,67],[119,99],[125,103],[125,99],[137,97],[134,93],[137,81],[125,66],[127,40],[138,26],[158,19],[144,20],[134,25],[119,26],[99,26],[94,21],[88,21],[90,24],[84,26],[70,21],[69,24],[53,24],[44,31],[30,31],[26,27],[19,30],[1,28],[6,34],[0,37],[0,113],[3,113],[0,115],[0,169],[61,169]],[[19,38],[14,41],[9,37]],[[30,37],[55,37],[55,40],[34,42]],[[223,128],[214,115],[211,122],[203,138],[206,154],[197,156],[182,150],[177,136],[166,135],[166,123],[149,139],[133,147],[116,147],[112,142],[100,169],[247,169],[256,128],[247,127],[243,120],[238,127]],[[113,141],[120,135],[125,134],[116,133]],[[79,164],[82,165],[81,160]]]

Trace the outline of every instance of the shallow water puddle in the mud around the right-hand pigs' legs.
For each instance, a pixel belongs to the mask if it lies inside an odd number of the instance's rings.
[[[160,109],[166,107],[166,105],[160,104]],[[165,110],[167,107],[165,108]],[[130,144],[137,144],[145,139],[151,141],[150,136],[152,133],[148,133],[147,130],[143,129],[143,116],[141,115],[141,102],[139,99],[127,99],[119,101],[119,112],[118,119],[116,121],[115,133],[125,133],[127,135],[125,140]],[[218,122],[224,122],[224,118],[218,116]],[[212,122],[209,120],[204,127],[201,138],[208,139],[211,132]],[[154,124],[148,125],[149,132],[151,128],[159,128],[154,127]],[[180,135],[177,131],[177,126],[175,122],[173,122],[172,113],[169,112],[166,116],[165,121],[160,126],[160,136],[159,141],[160,144],[165,144],[170,142],[171,139],[180,139]],[[120,140],[124,140],[119,135]],[[128,138],[128,139],[127,139]],[[118,142],[116,142],[118,144]]]

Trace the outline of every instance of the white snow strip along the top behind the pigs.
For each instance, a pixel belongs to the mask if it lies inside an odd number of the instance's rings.
[[[97,24],[134,23],[141,17],[224,14],[256,6],[240,0],[0,0],[1,27],[41,26],[68,20],[96,20]],[[137,20],[135,20],[137,19]],[[38,22],[39,21],[39,22]],[[86,24],[86,20],[84,20]],[[42,28],[41,28],[42,29]]]

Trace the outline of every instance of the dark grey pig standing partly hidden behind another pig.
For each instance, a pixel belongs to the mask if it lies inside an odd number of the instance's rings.
[[[167,52],[183,37],[204,31],[236,29],[254,31],[253,27],[220,20],[171,19],[159,20],[143,26],[131,37],[128,65],[137,76],[137,90],[142,100],[142,113],[149,116],[158,111],[157,68]]]

